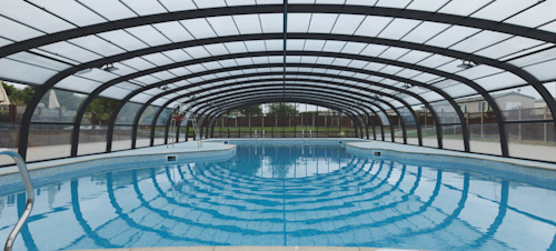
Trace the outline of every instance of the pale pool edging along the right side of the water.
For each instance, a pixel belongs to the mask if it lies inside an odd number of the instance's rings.
[[[349,142],[346,143],[346,147],[357,148],[360,150],[369,150],[370,152],[368,153],[373,153],[373,150],[383,150],[383,151],[393,151],[398,153],[415,153],[415,154],[439,155],[439,157],[451,157],[451,158],[464,158],[464,159],[473,158],[477,160],[495,161],[505,164],[522,165],[525,168],[556,171],[556,164],[547,162],[486,155],[471,152],[458,152],[447,149],[433,149],[419,145],[398,144],[398,143],[389,143],[383,141],[366,140],[366,142]]]

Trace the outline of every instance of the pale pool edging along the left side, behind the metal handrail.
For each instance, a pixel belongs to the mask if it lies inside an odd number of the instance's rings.
[[[48,168],[56,168],[56,167],[60,167],[60,165],[82,163],[82,162],[92,161],[92,160],[122,159],[122,158],[138,157],[138,155],[155,157],[155,155],[167,155],[167,154],[207,153],[207,152],[229,151],[229,150],[234,150],[236,148],[236,145],[234,145],[234,144],[225,144],[225,143],[219,143],[219,142],[207,142],[207,141],[202,141],[203,148],[197,148],[196,147],[197,143],[198,143],[198,141],[188,141],[188,142],[176,143],[176,144],[173,144],[173,147],[169,147],[169,148],[167,148],[167,145],[163,144],[163,145],[157,145],[157,147],[151,147],[151,148],[130,149],[130,150],[110,152],[110,153],[100,153],[100,154],[83,155],[83,157],[76,157],[76,158],[66,158],[66,159],[60,159],[60,160],[34,162],[34,163],[27,164],[27,168],[29,171],[34,171],[34,170],[41,170],[41,169],[48,169]],[[205,144],[207,144],[207,143],[212,144],[212,145],[210,145],[210,148],[205,148]],[[183,147],[187,147],[187,148],[183,148]],[[210,157],[210,154],[207,154],[206,157]],[[17,165],[9,165],[9,167],[0,169],[0,177],[13,174],[13,173],[19,173]]]

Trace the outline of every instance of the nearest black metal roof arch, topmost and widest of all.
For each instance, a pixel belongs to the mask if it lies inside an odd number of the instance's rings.
[[[139,27],[145,24],[153,24],[169,21],[179,21],[196,18],[209,18],[218,16],[232,14],[261,14],[261,13],[282,13],[284,4],[261,4],[261,6],[240,6],[240,7],[224,7],[211,9],[197,9],[176,11],[168,13],[142,16],[137,18],[128,18],[105,23],[79,27],[71,30],[59,31],[21,42],[4,46],[0,48],[0,58],[19,51],[30,50],[41,46],[47,46],[54,42],[66,41],[89,34],[96,34],[107,31]],[[532,29],[523,26],[516,26],[504,22],[496,22],[485,19],[461,17],[456,14],[447,14],[439,12],[428,12],[408,9],[394,9],[381,7],[365,7],[365,6],[346,6],[346,4],[288,4],[289,13],[344,13],[344,14],[361,14],[361,16],[380,16],[390,18],[405,18],[420,21],[433,21],[455,26],[473,27],[483,30],[492,30],[508,34],[532,38],[546,42],[556,41],[556,34],[549,31]]]

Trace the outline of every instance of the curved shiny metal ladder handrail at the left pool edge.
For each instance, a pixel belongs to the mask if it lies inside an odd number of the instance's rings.
[[[0,148],[0,155],[9,155],[16,161],[16,163],[18,164],[19,174],[21,174],[21,179],[23,180],[23,185],[26,187],[26,197],[27,197],[26,210],[21,214],[21,218],[19,218],[18,222],[16,223],[16,227],[13,227],[13,229],[11,230],[10,235],[8,235],[8,240],[6,241],[6,244],[3,247],[4,251],[11,251],[11,247],[13,245],[13,242],[18,237],[19,230],[21,230],[21,228],[26,223],[27,218],[31,215],[31,210],[34,203],[34,192],[31,178],[29,178],[29,171],[27,170],[26,161],[17,152],[13,152],[4,148]]]

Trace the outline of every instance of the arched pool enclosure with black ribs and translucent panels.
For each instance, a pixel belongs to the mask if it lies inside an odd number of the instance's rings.
[[[488,120],[495,154],[530,159],[510,145],[537,131],[542,139],[528,141],[530,148],[556,149],[553,0],[2,3],[0,79],[38,87],[18,120],[14,147],[23,158],[33,131],[48,126],[70,131],[68,157],[79,155],[89,126],[83,114],[99,97],[118,100],[102,132],[106,152],[115,150],[119,130],[131,130],[131,148],[141,130],[153,145],[178,103],[192,104],[210,138],[229,110],[269,102],[340,111],[359,138],[395,141],[399,126],[400,142],[411,128],[424,145],[423,109],[437,148],[453,130],[463,151],[480,153],[474,130],[480,120],[483,133]],[[44,121],[41,100],[51,90],[85,98],[59,109],[57,121]],[[524,112],[517,98],[502,102],[507,93],[536,99],[530,108],[543,112]],[[480,118],[469,116],[471,100]]]

